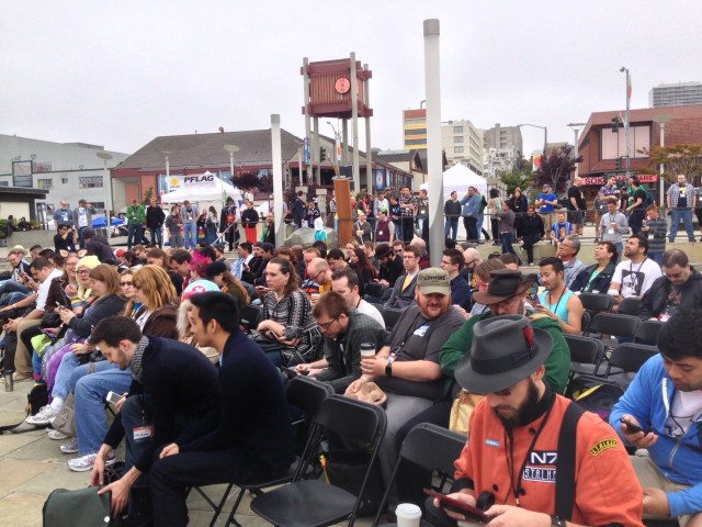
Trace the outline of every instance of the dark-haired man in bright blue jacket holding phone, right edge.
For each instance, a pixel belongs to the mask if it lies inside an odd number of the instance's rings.
[[[702,310],[680,309],[666,322],[660,354],[638,370],[610,414],[610,424],[637,449],[630,459],[644,487],[644,517],[677,518],[688,527],[702,520],[701,318]]]

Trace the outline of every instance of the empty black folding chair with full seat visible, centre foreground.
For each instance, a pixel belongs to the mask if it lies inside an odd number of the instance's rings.
[[[352,526],[355,522],[361,496],[385,436],[385,411],[373,404],[333,394],[321,404],[315,423],[343,437],[349,444],[358,445],[359,451],[372,452],[363,482],[354,495],[321,480],[303,480],[301,474],[316,457],[320,442],[319,438],[310,438],[293,482],[251,501],[251,509],[275,526],[324,527],[343,519],[348,519],[347,525]]]

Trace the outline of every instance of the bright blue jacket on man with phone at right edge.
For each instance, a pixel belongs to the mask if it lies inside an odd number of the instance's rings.
[[[650,460],[668,480],[690,485],[686,491],[667,493],[671,517],[702,511],[702,423],[692,423],[682,437],[670,437],[666,419],[673,394],[675,386],[657,355],[636,373],[610,414],[610,425],[622,439],[619,418],[624,414],[635,417],[645,430],[653,428],[658,439],[648,449]]]

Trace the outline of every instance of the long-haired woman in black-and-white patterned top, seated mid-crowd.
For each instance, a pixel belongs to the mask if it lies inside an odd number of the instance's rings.
[[[318,359],[321,334],[292,264],[284,258],[272,258],[265,267],[265,280],[269,292],[263,299],[263,319],[258,332],[282,347],[294,348],[291,363]]]

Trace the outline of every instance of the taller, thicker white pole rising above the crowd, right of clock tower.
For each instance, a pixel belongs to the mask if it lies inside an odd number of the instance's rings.
[[[424,90],[427,100],[427,169],[429,172],[429,255],[432,267],[441,266],[443,237],[443,171],[441,162],[440,25],[424,20]]]

